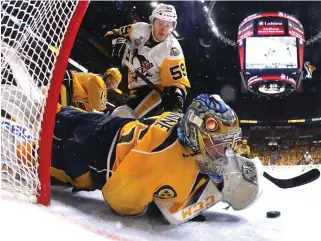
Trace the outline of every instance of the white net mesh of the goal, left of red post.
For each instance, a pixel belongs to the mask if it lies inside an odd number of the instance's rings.
[[[2,193],[37,200],[37,151],[47,93],[77,5],[1,1]]]

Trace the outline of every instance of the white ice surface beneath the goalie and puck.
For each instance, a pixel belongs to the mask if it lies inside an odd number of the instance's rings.
[[[306,170],[308,170],[306,168]],[[302,167],[267,170],[279,178],[304,172]],[[0,204],[1,240],[321,240],[321,180],[280,189],[264,180],[261,198],[243,211],[219,204],[206,211],[206,222],[170,226],[152,218],[120,217],[107,207],[101,193],[72,193],[54,187],[49,207],[3,199]],[[276,219],[269,210],[281,211]],[[5,237],[5,238],[3,238]]]

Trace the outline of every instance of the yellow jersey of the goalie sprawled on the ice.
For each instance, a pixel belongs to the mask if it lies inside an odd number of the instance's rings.
[[[183,155],[188,151],[177,139],[178,118],[166,112],[151,126],[134,121],[121,129],[113,174],[102,189],[117,213],[143,214],[153,200],[183,206],[189,201],[199,169],[193,158]]]

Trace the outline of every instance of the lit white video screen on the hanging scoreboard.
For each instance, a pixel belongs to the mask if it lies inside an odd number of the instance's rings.
[[[246,39],[245,69],[298,68],[295,37],[251,37]]]

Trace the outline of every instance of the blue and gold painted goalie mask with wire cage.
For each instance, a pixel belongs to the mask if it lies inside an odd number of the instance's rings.
[[[180,142],[197,156],[200,172],[221,182],[227,164],[225,151],[240,141],[236,113],[219,95],[202,94],[196,97],[180,120]]]

